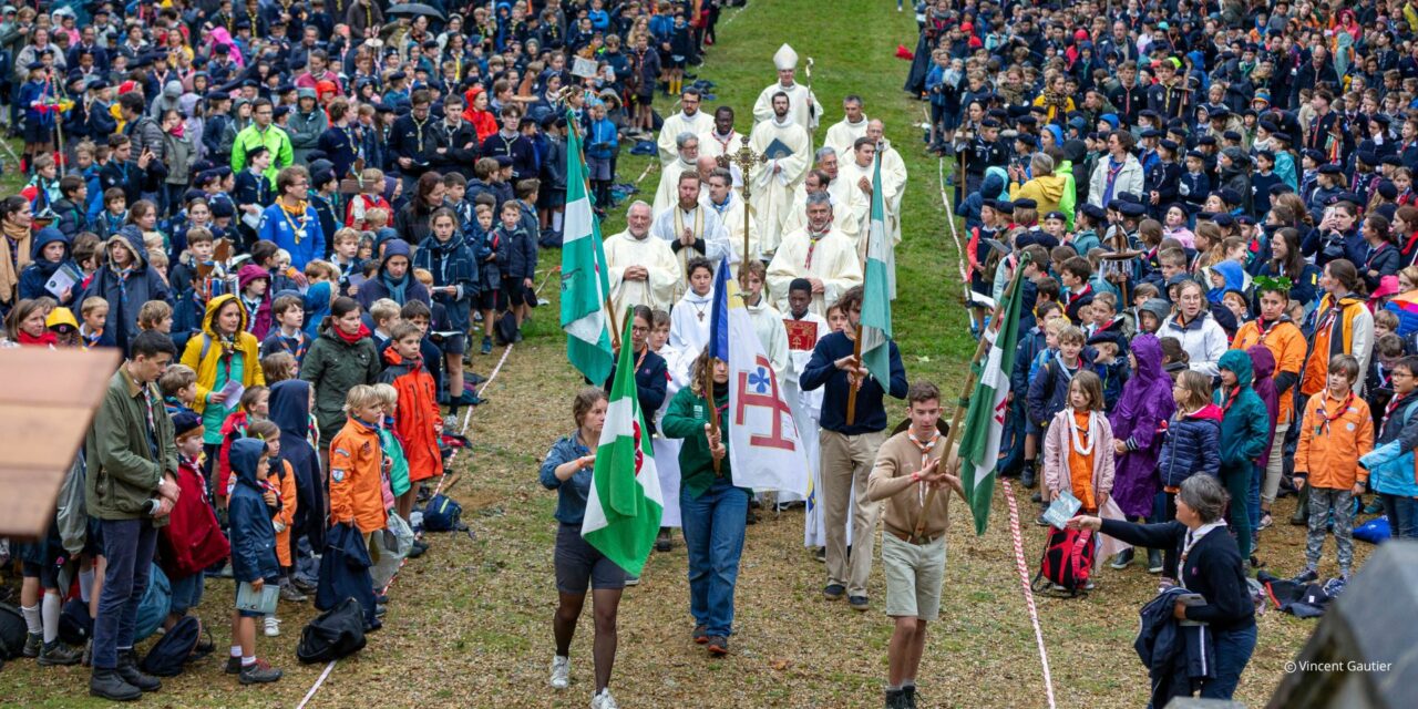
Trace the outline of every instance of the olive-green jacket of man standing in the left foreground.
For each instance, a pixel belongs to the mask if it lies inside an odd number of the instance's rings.
[[[143,396],[150,401],[156,424],[156,457],[147,440]],[[157,496],[163,474],[177,474],[173,435],[173,423],[157,387],[139,387],[126,366],[118,367],[108,380],[108,391],[84,444],[89,515],[98,519],[146,519],[147,501]],[[166,523],[167,518],[153,520],[153,526]]]

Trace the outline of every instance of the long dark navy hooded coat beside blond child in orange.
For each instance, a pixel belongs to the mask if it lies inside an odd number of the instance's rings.
[[[325,484],[320,461],[308,438],[311,383],[288,379],[271,384],[271,423],[281,428],[281,459],[295,472],[295,536],[305,535],[312,549],[325,547]]]

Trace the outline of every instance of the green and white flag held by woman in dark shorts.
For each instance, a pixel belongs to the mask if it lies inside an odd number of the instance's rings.
[[[630,343],[630,326],[627,315],[621,342]],[[625,346],[611,383],[605,427],[596,447],[581,536],[631,576],[640,576],[645,567],[665,510],[649,441],[635,387],[635,347]]]

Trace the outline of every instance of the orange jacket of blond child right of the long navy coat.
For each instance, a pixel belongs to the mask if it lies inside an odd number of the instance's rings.
[[[384,529],[379,430],[350,418],[330,441],[330,525],[352,522],[364,535]]]

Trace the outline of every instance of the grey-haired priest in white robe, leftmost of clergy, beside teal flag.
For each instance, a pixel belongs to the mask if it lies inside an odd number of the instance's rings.
[[[668,311],[679,284],[679,261],[665,240],[649,235],[649,204],[635,200],[625,211],[625,231],[605,240],[605,275],[611,308],[623,313],[634,305]]]

